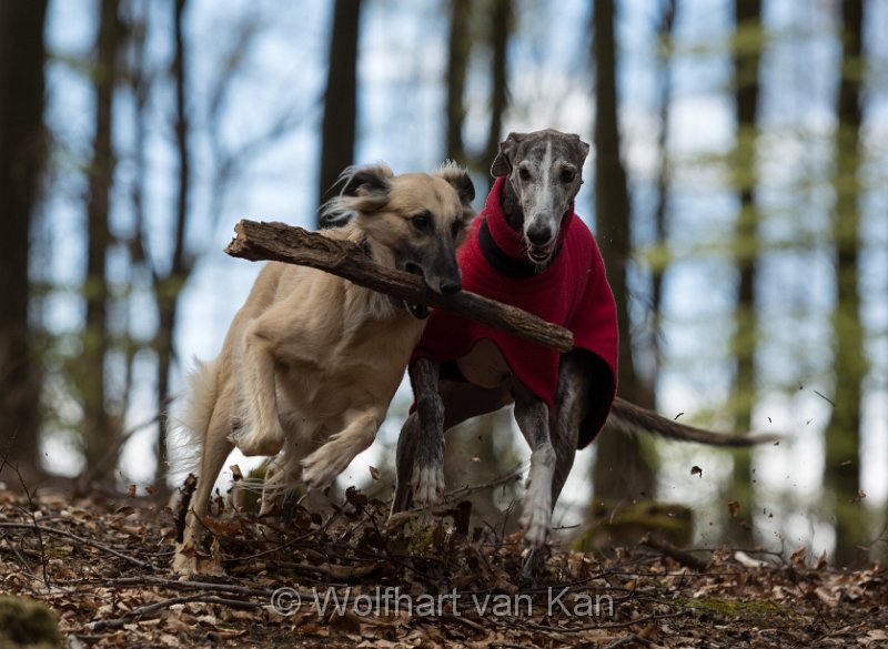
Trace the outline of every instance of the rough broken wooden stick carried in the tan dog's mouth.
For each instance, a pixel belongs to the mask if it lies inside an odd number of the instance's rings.
[[[334,241],[316,232],[276,222],[244,220],[234,226],[234,240],[225,249],[231,256],[252,262],[266,260],[310,266],[411,304],[450,311],[559,352],[569,352],[574,347],[573,334],[563,327],[468,291],[453,295],[435,293],[418,275],[376,264],[353,242]]]

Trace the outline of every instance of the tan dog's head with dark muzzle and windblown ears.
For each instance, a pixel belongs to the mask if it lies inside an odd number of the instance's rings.
[[[394,267],[422,275],[436,293],[462,288],[456,247],[475,215],[475,186],[464,170],[447,163],[433,174],[396,176],[377,164],[350,168],[342,180],[342,193],[324,209],[325,222],[354,217]]]

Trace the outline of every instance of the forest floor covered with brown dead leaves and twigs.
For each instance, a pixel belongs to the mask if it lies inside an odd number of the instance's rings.
[[[888,647],[878,566],[648,545],[553,551],[528,585],[518,535],[466,530],[464,507],[389,521],[350,490],[330,515],[295,509],[273,542],[229,508],[212,530],[225,576],[184,580],[175,514],[131,491],[0,490],[0,648],[34,646],[41,620],[58,623],[42,646],[70,648]]]

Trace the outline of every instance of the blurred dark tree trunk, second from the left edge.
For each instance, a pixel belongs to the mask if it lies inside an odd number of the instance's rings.
[[[112,420],[105,410],[105,359],[110,348],[108,331],[108,281],[105,263],[111,244],[109,226],[111,189],[114,182],[112,142],[113,97],[118,80],[118,48],[121,22],[118,0],[102,0],[95,44],[95,132],[89,168],[87,199],[88,244],[87,323],[83,333],[83,450],[93,467],[114,444]]]

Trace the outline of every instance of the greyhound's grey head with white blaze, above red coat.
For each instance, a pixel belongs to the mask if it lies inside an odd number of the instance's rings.
[[[500,143],[491,173],[507,176],[503,211],[524,233],[527,256],[537,266],[546,265],[555,252],[563,217],[573,210],[583,184],[588,152],[578,135],[552,129],[509,133]]]

